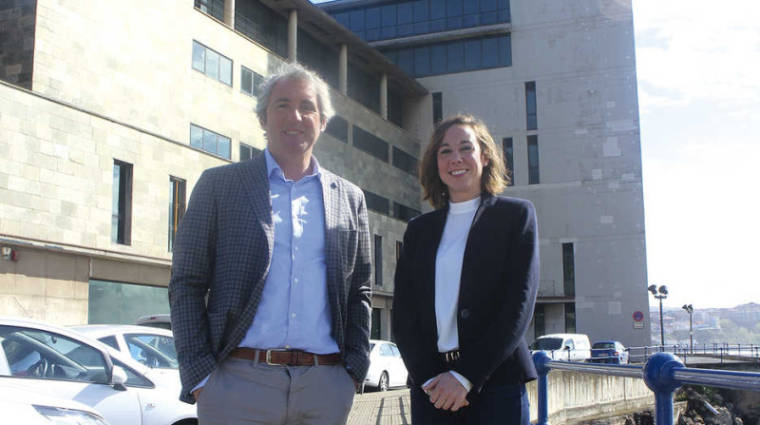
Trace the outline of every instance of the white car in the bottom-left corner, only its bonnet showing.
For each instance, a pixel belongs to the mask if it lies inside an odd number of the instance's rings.
[[[0,383],[3,423],[24,425],[108,425],[95,409],[73,400],[46,396],[22,385]]]

